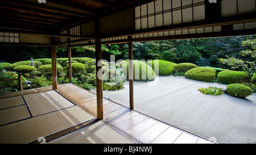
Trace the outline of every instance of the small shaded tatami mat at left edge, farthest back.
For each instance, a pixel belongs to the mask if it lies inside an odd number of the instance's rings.
[[[9,108],[25,104],[22,97],[12,97],[6,99],[0,99],[0,110],[3,108]]]

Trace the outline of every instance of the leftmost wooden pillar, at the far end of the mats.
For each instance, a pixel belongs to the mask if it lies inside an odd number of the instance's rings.
[[[52,45],[52,90],[57,89],[57,52],[56,46]]]

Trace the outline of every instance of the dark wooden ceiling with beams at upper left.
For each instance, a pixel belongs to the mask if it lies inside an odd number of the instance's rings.
[[[129,9],[143,0],[0,0],[0,30],[56,33],[66,27]]]

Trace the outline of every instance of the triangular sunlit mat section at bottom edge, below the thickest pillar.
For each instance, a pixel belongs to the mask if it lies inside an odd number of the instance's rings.
[[[98,121],[68,135],[49,141],[49,144],[131,144],[126,137]]]

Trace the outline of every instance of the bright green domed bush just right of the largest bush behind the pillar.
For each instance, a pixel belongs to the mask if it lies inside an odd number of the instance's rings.
[[[174,72],[174,68],[177,64],[164,60],[152,60],[147,62],[149,66],[158,73],[159,76],[170,76],[172,72]],[[155,68],[155,65],[158,64],[158,69]]]

